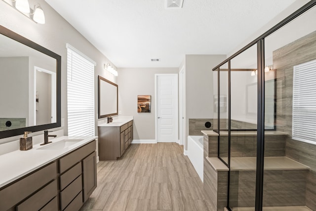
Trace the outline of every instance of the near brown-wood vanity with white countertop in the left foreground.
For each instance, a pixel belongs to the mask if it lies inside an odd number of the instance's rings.
[[[79,210],[97,186],[96,136],[0,156],[0,210]]]

